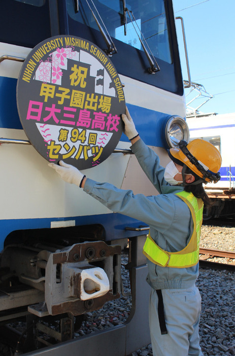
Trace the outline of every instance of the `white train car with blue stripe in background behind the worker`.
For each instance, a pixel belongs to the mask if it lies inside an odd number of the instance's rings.
[[[218,217],[234,218],[235,214],[235,114],[197,115],[187,117],[190,139],[203,138],[221,153],[221,180],[207,184],[205,189],[213,204],[205,207],[204,220]]]

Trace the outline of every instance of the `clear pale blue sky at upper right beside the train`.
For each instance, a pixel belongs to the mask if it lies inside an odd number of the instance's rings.
[[[198,110],[234,113],[235,0],[173,0],[173,5],[175,16],[184,19],[191,80],[214,96]],[[180,20],[176,24],[183,79],[187,80]],[[186,103],[195,96],[195,92],[189,94]],[[196,108],[205,100],[197,99],[191,106]]]

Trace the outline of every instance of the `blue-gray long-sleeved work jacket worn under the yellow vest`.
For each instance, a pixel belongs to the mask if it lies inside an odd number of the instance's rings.
[[[84,191],[110,210],[148,224],[151,237],[163,250],[180,251],[187,245],[193,231],[191,212],[187,204],[175,195],[184,187],[171,186],[164,180],[164,168],[159,164],[159,157],[141,139],[131,146],[131,150],[159,195],[134,195],[131,190],[90,179],[86,180]],[[170,268],[155,265],[149,260],[147,263],[147,282],[153,289],[190,288],[198,276],[198,264]]]

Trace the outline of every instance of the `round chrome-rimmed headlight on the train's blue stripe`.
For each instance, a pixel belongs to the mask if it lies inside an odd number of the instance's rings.
[[[180,140],[189,141],[189,129],[186,121],[179,116],[171,116],[165,125],[167,148],[178,148]]]

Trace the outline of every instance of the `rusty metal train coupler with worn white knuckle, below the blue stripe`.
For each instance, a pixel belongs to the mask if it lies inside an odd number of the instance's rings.
[[[39,255],[41,261],[47,260],[45,303],[29,306],[31,313],[80,315],[120,297],[121,246],[109,246],[104,241],[83,242]]]

